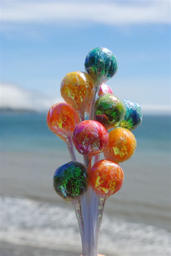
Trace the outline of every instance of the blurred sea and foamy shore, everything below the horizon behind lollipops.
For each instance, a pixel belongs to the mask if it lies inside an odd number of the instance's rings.
[[[171,255],[170,124],[170,116],[144,116],[133,131],[137,149],[121,163],[122,189],[106,201],[99,253]],[[80,255],[74,208],[52,189],[54,171],[70,157],[65,143],[48,130],[46,115],[1,114],[0,146],[0,255]]]

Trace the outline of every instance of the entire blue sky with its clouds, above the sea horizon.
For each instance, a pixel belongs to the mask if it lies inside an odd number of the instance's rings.
[[[170,1],[1,1],[1,107],[47,111],[68,72],[109,48],[115,95],[145,114],[170,112]]]

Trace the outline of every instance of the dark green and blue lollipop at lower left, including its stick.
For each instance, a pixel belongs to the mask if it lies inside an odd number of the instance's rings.
[[[69,162],[59,167],[53,176],[53,188],[66,201],[71,201],[78,219],[83,252],[86,251],[85,231],[80,201],[88,190],[88,174],[86,167],[79,162]]]

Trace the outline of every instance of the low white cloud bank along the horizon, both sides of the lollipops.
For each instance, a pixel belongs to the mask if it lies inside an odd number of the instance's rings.
[[[39,92],[26,90],[12,84],[1,84],[0,107],[12,109],[26,109],[36,111],[48,111],[57,103],[63,102],[61,97],[47,97]],[[170,105],[165,104],[142,104],[144,114],[170,114]]]

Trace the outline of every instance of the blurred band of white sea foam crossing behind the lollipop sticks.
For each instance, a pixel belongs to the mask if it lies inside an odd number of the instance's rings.
[[[1,240],[40,248],[81,252],[74,209],[25,198],[1,197]],[[99,252],[117,256],[169,256],[170,233],[153,226],[106,217]]]

